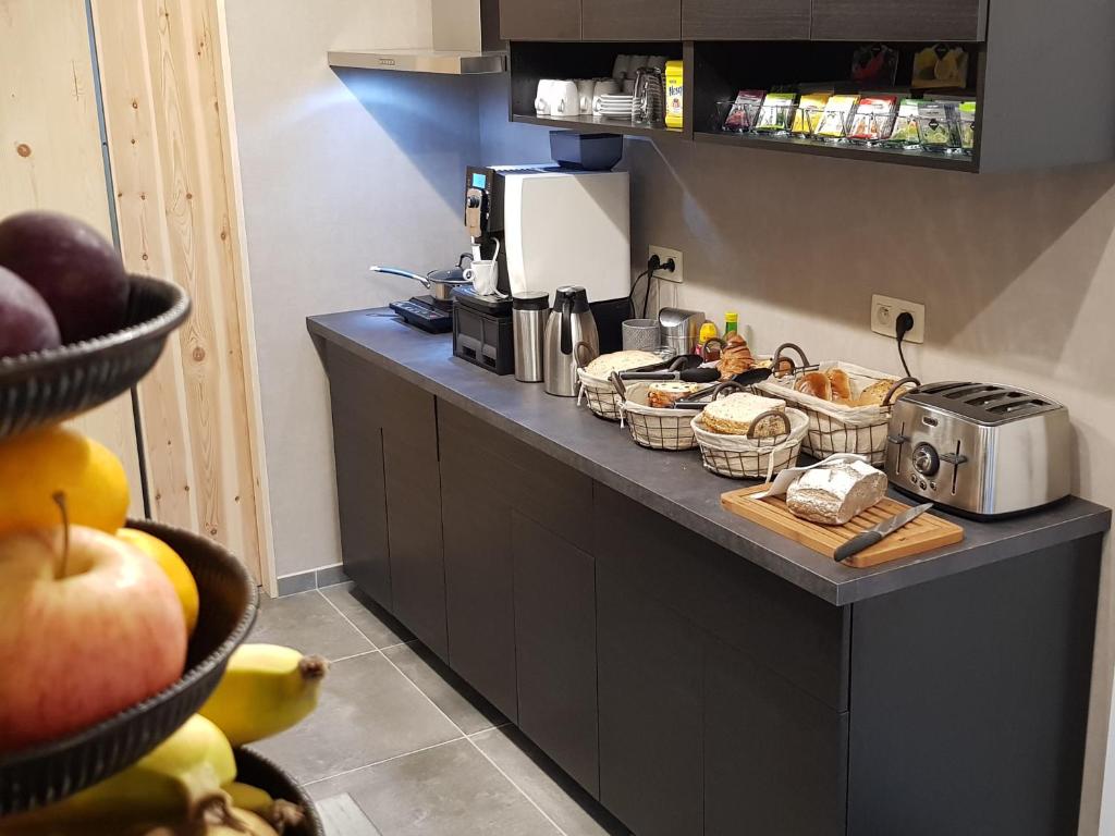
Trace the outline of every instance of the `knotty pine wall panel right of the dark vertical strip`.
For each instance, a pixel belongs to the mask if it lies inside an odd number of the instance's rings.
[[[270,585],[217,0],[94,0],[129,270],[193,299],[140,386],[154,516],[207,534]]]

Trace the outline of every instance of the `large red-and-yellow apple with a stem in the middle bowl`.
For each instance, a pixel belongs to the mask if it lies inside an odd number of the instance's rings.
[[[65,737],[175,682],[186,625],[174,586],[95,528],[0,538],[0,752]]]

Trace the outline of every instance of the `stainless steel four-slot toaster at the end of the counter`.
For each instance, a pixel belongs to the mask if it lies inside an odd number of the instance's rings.
[[[1068,410],[992,383],[919,387],[894,402],[886,475],[902,490],[978,517],[1068,496]]]

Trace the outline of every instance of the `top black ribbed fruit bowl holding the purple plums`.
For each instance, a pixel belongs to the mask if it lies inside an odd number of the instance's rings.
[[[176,284],[128,276],[125,327],[71,346],[0,358],[0,440],[57,424],[127,391],[190,313]]]

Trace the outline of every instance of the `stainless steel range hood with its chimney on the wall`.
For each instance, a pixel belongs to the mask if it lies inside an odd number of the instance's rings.
[[[507,69],[497,0],[432,0],[432,49],[339,49],[330,67],[475,76]]]

